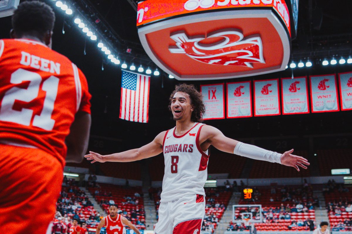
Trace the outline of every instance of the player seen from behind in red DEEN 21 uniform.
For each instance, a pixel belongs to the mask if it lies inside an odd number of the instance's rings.
[[[46,233],[65,159],[81,162],[88,146],[87,80],[51,49],[54,22],[48,5],[25,1],[13,39],[0,40],[0,233]]]

